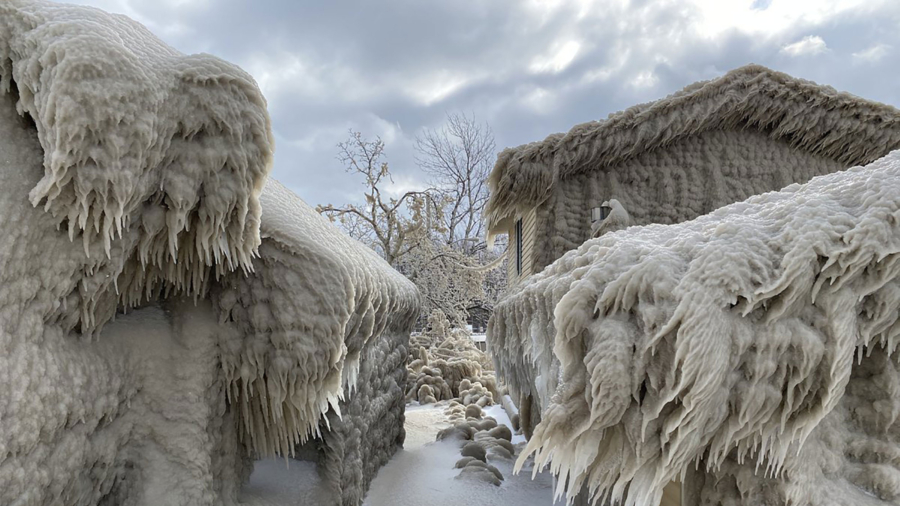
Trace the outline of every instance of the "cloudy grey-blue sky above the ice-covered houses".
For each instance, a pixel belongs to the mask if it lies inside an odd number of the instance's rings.
[[[759,63],[900,105],[897,0],[77,0],[250,72],[274,176],[308,203],[358,200],[336,144],[380,136],[393,191],[413,139],[474,113],[497,148],[540,140]]]

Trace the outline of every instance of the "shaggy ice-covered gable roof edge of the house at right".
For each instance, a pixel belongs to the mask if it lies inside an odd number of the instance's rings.
[[[900,111],[894,107],[747,65],[568,133],[505,149],[488,180],[488,230],[504,233],[504,220],[541,203],[560,179],[609,170],[642,152],[723,128],[755,128],[848,167],[900,147]]]

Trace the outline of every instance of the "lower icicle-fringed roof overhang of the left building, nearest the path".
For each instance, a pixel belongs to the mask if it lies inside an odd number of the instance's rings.
[[[408,336],[419,299],[400,273],[277,181],[261,200],[254,273],[229,274],[213,298],[222,322],[234,324],[222,362],[242,433],[257,452],[284,455],[318,432],[329,407],[340,414],[370,340],[388,327]]]

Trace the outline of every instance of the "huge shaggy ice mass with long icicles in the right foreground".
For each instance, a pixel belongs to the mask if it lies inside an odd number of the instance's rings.
[[[586,242],[496,309],[559,492],[655,504],[900,500],[900,153]]]

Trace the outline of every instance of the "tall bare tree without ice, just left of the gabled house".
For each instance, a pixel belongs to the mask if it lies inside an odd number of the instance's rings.
[[[447,124],[416,137],[416,162],[430,176],[445,203],[446,243],[466,254],[484,248],[482,211],[488,199],[487,177],[494,162],[494,134],[465,114],[447,115]]]

